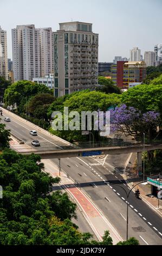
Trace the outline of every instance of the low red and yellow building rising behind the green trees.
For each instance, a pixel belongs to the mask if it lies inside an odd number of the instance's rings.
[[[122,89],[128,89],[129,83],[140,83],[145,78],[145,62],[117,62],[112,65],[112,80]]]

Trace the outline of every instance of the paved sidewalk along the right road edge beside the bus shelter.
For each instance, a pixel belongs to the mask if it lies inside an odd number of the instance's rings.
[[[125,174],[123,175],[128,186],[132,188],[140,181],[142,181],[142,177],[137,176],[137,171],[133,166],[130,168],[126,167]],[[162,200],[159,200],[159,209],[158,209],[158,198],[151,197],[151,186],[150,184],[139,184],[135,187],[139,188],[140,197],[144,200],[153,210],[155,210],[162,217]]]

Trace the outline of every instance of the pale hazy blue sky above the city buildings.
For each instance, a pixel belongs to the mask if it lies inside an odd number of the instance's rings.
[[[0,26],[7,31],[12,59],[11,29],[34,24],[59,29],[59,23],[93,23],[99,34],[99,62],[129,57],[129,50],[153,51],[162,43],[162,0],[0,0]]]

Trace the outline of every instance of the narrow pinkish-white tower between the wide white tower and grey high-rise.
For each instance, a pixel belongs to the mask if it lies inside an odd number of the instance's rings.
[[[52,29],[38,28],[40,36],[40,69],[41,77],[53,72]]]

